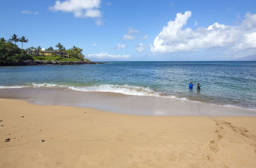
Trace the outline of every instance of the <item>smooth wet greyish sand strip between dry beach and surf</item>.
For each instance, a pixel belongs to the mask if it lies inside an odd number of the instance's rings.
[[[0,89],[0,98],[27,100],[41,105],[92,107],[129,115],[148,116],[256,116],[244,109],[153,96],[63,89]]]

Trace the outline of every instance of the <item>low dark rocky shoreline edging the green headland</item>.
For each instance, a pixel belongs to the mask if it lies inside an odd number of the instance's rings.
[[[31,65],[83,65],[83,64],[104,64],[97,62],[87,61],[46,61],[46,60],[26,60],[12,64],[3,64],[0,62],[0,66],[31,66]]]

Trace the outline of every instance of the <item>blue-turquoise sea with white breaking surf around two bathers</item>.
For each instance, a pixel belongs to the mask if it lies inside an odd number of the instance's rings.
[[[190,81],[199,82],[201,90],[196,86],[189,90]],[[169,97],[256,109],[256,62],[107,62],[0,67],[0,89],[23,87]]]

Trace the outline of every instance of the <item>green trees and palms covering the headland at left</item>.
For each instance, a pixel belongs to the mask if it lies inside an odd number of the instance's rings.
[[[16,43],[21,42],[22,48],[20,49]],[[70,49],[66,49],[61,43],[57,43],[54,49],[52,46],[45,49],[48,52],[42,50],[41,46],[38,47],[29,47],[26,50],[23,49],[24,43],[28,43],[29,40],[25,37],[18,37],[18,35],[13,34],[9,40],[6,40],[4,37],[0,38],[0,65],[8,65],[15,64],[20,61],[25,60],[47,60],[47,61],[88,61],[88,59],[84,59],[84,55],[82,54],[82,49],[76,46],[73,46]],[[28,54],[27,51],[35,51],[28,52],[33,54]],[[50,52],[49,52],[50,51]],[[61,55],[57,55],[56,52],[61,51],[65,55],[65,57],[61,57]]]

